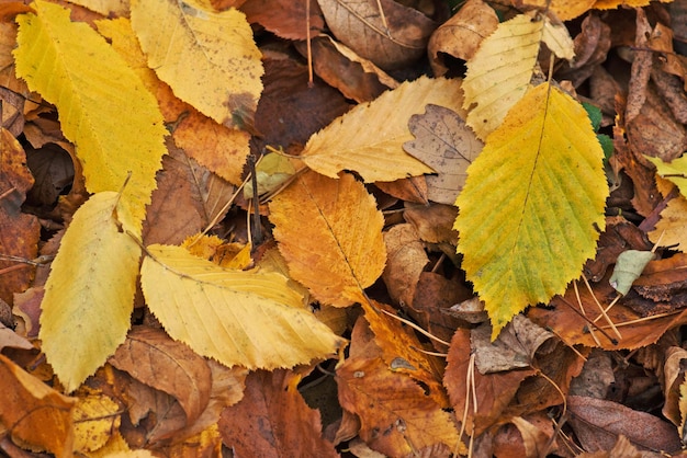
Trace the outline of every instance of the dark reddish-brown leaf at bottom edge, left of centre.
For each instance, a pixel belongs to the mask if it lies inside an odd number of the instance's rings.
[[[224,444],[237,456],[336,457],[322,438],[319,412],[297,390],[301,375],[258,370],[246,379],[246,393],[219,419]]]

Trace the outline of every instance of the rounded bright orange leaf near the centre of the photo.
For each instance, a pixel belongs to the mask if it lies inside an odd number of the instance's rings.
[[[291,276],[323,304],[364,301],[384,271],[384,218],[362,183],[308,171],[270,203],[270,220]]]

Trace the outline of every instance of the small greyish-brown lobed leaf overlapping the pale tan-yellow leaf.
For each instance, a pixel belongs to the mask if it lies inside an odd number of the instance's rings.
[[[453,205],[465,185],[468,165],[484,145],[459,114],[439,105],[429,104],[425,114],[413,115],[408,127],[415,140],[403,148],[438,173],[427,176],[428,198]]]

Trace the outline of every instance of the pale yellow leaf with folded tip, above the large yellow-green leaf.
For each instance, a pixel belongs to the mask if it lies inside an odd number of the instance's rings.
[[[560,57],[572,57],[573,42],[565,27],[553,26],[548,18],[520,14],[498,24],[468,61],[463,107],[476,105],[468,114],[468,125],[478,138],[496,129],[525,95],[542,41]]]

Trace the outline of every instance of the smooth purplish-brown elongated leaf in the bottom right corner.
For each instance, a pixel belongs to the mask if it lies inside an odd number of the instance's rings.
[[[608,450],[620,435],[646,450],[676,451],[682,447],[675,426],[616,402],[571,396],[567,410],[568,422],[587,451]]]

